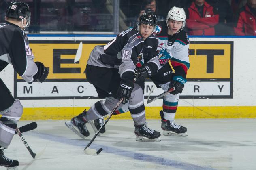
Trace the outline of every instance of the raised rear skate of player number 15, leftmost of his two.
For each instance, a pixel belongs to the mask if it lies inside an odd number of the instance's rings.
[[[86,110],[83,111],[83,113],[79,114],[78,116],[75,116],[71,119],[71,121],[65,122],[66,126],[70,128],[75,134],[80,136],[81,138],[88,137],[90,135],[89,130],[87,129],[86,123],[88,122],[85,119]]]

